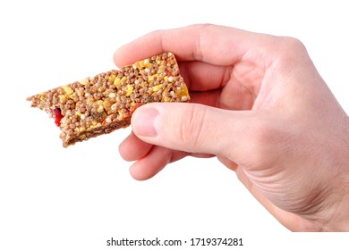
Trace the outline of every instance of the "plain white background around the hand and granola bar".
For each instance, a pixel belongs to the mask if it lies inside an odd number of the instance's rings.
[[[348,234],[285,229],[216,159],[186,158],[140,182],[118,153],[130,129],[64,149],[54,122],[25,101],[115,68],[115,49],[151,30],[210,22],[301,39],[348,112],[345,2],[2,1],[0,249],[120,249],[106,246],[111,237],[243,237],[242,249],[347,249]]]

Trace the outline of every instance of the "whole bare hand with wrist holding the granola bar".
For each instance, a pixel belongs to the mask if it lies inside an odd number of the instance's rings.
[[[300,41],[192,25],[151,32],[114,60],[167,51],[192,102],[133,113],[119,150],[134,179],[187,155],[217,156],[286,228],[349,231],[349,119]]]

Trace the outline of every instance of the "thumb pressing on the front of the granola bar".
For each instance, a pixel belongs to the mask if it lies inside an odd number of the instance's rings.
[[[202,104],[152,103],[132,115],[133,133],[149,144],[185,151],[231,155],[238,145],[246,112]]]

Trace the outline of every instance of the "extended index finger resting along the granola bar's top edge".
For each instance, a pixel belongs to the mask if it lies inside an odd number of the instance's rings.
[[[232,65],[258,40],[255,36],[242,29],[209,24],[157,30],[120,47],[115,51],[114,62],[123,67],[154,54],[172,52],[178,61]]]

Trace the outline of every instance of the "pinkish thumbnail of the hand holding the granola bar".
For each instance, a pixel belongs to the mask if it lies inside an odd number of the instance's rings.
[[[156,137],[158,114],[159,112],[154,108],[139,108],[132,115],[133,132],[141,137]]]

